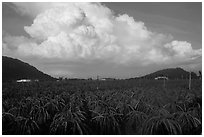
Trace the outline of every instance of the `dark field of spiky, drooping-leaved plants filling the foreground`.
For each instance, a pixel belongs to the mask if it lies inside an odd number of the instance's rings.
[[[202,82],[3,83],[2,134],[201,134]]]

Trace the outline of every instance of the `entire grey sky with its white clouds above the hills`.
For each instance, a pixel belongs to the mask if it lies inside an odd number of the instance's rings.
[[[202,3],[2,4],[2,55],[53,77],[202,69]]]

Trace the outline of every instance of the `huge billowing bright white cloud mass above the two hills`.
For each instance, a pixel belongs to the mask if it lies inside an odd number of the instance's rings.
[[[127,14],[115,16],[100,3],[14,4],[16,11],[34,20],[24,27],[29,38],[3,36],[5,55],[120,66],[193,63],[202,55],[189,42],[152,32]]]

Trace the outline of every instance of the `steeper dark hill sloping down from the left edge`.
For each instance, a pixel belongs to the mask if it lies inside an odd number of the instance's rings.
[[[39,81],[55,80],[55,78],[44,74],[28,63],[11,57],[2,56],[2,81],[10,82],[19,79],[38,79]]]

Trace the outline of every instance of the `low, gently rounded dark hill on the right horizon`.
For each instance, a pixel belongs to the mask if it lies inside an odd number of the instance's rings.
[[[169,68],[169,69],[156,71],[154,73],[142,76],[140,78],[154,79],[156,77],[161,77],[161,76],[168,77],[169,79],[189,79],[189,72],[185,71],[182,68]],[[191,78],[198,79],[199,77],[196,75],[196,73],[191,72]]]

